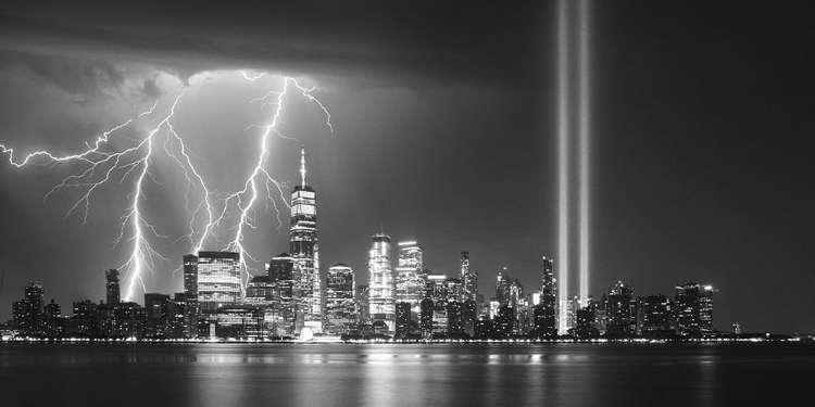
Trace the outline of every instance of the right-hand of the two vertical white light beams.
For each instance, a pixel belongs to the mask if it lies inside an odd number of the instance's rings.
[[[589,0],[580,0],[580,304],[589,305]]]

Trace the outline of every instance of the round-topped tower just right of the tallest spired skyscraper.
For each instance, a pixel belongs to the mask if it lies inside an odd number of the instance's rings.
[[[328,269],[325,285],[325,332],[340,335],[351,333],[356,325],[354,304],[354,274],[351,267],[337,263]]]

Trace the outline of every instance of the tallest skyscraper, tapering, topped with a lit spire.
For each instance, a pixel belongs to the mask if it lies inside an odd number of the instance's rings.
[[[289,253],[300,270],[300,295],[305,326],[322,331],[323,310],[317,244],[317,195],[305,183],[305,148],[300,150],[300,185],[291,192]]]

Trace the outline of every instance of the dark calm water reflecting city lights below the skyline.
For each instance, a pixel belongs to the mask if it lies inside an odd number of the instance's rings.
[[[0,406],[808,406],[814,394],[805,344],[0,344]]]

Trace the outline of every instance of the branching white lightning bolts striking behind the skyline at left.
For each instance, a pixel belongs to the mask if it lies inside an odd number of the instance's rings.
[[[266,73],[261,73],[255,76],[250,76],[242,71],[241,74],[243,75],[243,78],[250,81],[262,79],[267,75]],[[48,199],[51,194],[68,188],[83,190],[79,198],[68,207],[63,217],[66,218],[80,209],[83,212],[82,225],[87,224],[91,196],[97,189],[115,180],[123,183],[128,177],[135,177],[131,192],[127,195],[127,199],[130,200],[131,204],[126,208],[125,215],[121,218],[122,224],[120,233],[113,242],[114,247],[122,241],[127,241],[133,244],[127,260],[120,266],[120,270],[125,271],[125,281],[128,281],[124,300],[131,301],[136,288],[140,287],[143,291],[147,290],[143,281],[146,272],[149,271],[154,275],[158,264],[171,263],[166,256],[162,255],[161,252],[153,249],[150,244],[151,239],[165,239],[167,236],[161,234],[159,232],[159,227],[145,218],[141,207],[148,199],[145,194],[146,182],[160,185],[151,174],[150,168],[153,164],[154,153],[159,142],[156,139],[163,135],[165,137],[163,143],[164,152],[174,163],[176,163],[187,179],[185,207],[187,208],[187,215],[189,216],[189,232],[187,236],[183,237],[183,239],[191,242],[191,253],[198,253],[203,250],[210,239],[215,237],[216,228],[226,227],[228,230],[234,230],[234,239],[231,239],[224,249],[240,253],[241,268],[246,271],[248,281],[249,276],[251,276],[249,270],[252,268],[247,259],[253,262],[256,262],[256,259],[248,253],[243,245],[244,230],[247,228],[255,228],[255,205],[259,201],[265,203],[266,209],[269,208],[269,203],[274,206],[277,214],[278,230],[283,225],[275,196],[286,203],[283,192],[286,183],[275,180],[265,167],[269,156],[269,137],[276,135],[285,139],[292,139],[284,136],[278,130],[278,125],[281,122],[280,117],[285,97],[290,87],[298,89],[304,98],[319,106],[327,117],[326,125],[331,132],[334,131],[330,122],[330,114],[323,103],[312,96],[315,88],[305,88],[301,86],[296,78],[289,76],[284,77],[283,90],[269,91],[263,97],[252,99],[249,102],[250,104],[262,102],[261,109],[266,105],[274,105],[275,109],[268,124],[264,126],[250,126],[263,130],[259,143],[258,160],[250,175],[242,183],[242,189],[231,193],[222,194],[208,187],[204,177],[193,165],[191,157],[195,156],[195,154],[187,148],[184,138],[173,126],[172,119],[175,115],[176,106],[181,101],[186,90],[175,97],[168,111],[166,111],[161,117],[161,120],[147,132],[147,136],[142,140],[136,142],[135,145],[118,152],[105,151],[103,149],[108,143],[109,138],[123,128],[133,126],[136,122],[140,123],[141,118],[152,116],[159,105],[159,100],[155,101],[150,110],[140,113],[136,118],[128,119],[110,130],[104,131],[92,144],[86,142],[88,149],[78,154],[59,156],[48,151],[37,151],[26,155],[22,161],[15,161],[14,149],[0,144],[0,151],[3,154],[7,154],[9,163],[17,168],[26,165],[43,165],[50,167],[62,162],[76,162],[84,165],[84,169],[64,178],[62,182],[53,187],[45,196],[45,199]],[[164,131],[162,132],[162,130]],[[179,151],[173,150],[172,147],[174,144],[179,145]],[[261,191],[261,188],[265,190],[263,199],[260,199],[261,193],[263,192]],[[191,196],[196,193],[202,198],[197,203],[191,203]],[[288,206],[288,203],[286,203],[286,205]],[[190,211],[190,206],[195,207],[195,211]],[[227,220],[229,219],[231,208],[236,208],[239,212],[238,219],[231,225],[224,226],[223,224],[228,224]],[[196,224],[202,216],[204,217],[203,230],[198,230]],[[198,238],[196,239],[196,237]],[[216,237],[215,239],[217,240]]]

